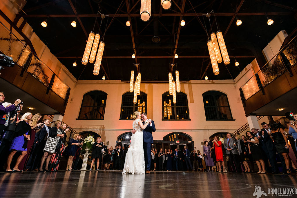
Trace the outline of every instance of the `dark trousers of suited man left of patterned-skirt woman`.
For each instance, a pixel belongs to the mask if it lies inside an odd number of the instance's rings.
[[[34,143],[32,153],[26,165],[26,170],[35,170],[40,164],[40,160],[44,154],[43,149],[45,147],[46,140],[42,140],[40,143]]]

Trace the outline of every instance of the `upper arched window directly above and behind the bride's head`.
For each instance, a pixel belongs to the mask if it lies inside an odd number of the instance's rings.
[[[120,119],[131,120],[134,111],[141,113],[147,110],[147,95],[140,91],[140,95],[137,96],[137,103],[133,103],[133,93],[127,92],[122,96],[122,107]]]

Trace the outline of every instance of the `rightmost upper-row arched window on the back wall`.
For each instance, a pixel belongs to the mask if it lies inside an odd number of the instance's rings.
[[[226,94],[207,91],[202,96],[206,120],[233,120]]]

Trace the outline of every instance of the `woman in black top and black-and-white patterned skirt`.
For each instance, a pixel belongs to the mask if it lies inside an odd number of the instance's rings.
[[[50,172],[48,170],[48,164],[50,162],[50,157],[53,155],[53,153],[55,153],[57,144],[60,140],[61,137],[64,137],[63,132],[61,132],[60,127],[62,125],[62,122],[57,120],[55,121],[55,123],[53,124],[53,127],[50,129],[50,134],[48,139],[45,142],[45,147],[43,149],[44,154],[41,158],[40,161],[40,167],[39,167],[39,172],[44,172],[43,170],[43,164],[45,162],[45,171],[46,172]],[[45,161],[46,159],[46,161]]]

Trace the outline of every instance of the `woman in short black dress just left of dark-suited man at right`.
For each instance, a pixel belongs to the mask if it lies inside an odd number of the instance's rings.
[[[248,142],[249,154],[252,155],[259,169],[257,173],[264,174],[266,173],[266,170],[265,170],[265,163],[263,161],[262,152],[259,147],[259,139],[252,132],[249,132],[249,131],[246,132],[246,135],[248,137],[247,142]]]

